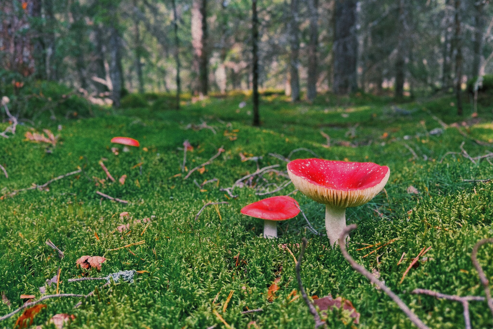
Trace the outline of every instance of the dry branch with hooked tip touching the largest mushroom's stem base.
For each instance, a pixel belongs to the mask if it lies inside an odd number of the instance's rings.
[[[366,268],[362,265],[359,265],[354,259],[352,259],[351,255],[349,255],[346,250],[346,237],[348,234],[356,228],[356,224],[349,225],[346,227],[344,232],[341,234],[339,238],[339,247],[341,248],[341,254],[346,258],[346,260],[350,263],[351,267],[370,280],[371,283],[375,284],[379,287],[383,292],[385,292],[392,300],[399,306],[399,308],[406,314],[406,316],[411,320],[412,323],[416,325],[419,329],[429,329],[421,320],[418,318],[416,314],[411,311],[411,309],[399,298],[394,292],[392,292],[382,281],[378,280],[373,274],[371,274]]]

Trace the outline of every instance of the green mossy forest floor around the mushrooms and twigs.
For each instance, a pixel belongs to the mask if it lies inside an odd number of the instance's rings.
[[[29,129],[18,126],[13,138],[0,140],[0,164],[9,175],[0,176],[0,195],[45,183],[77,167],[82,172],[50,184],[49,190],[19,192],[0,201],[0,291],[12,303],[0,302],[0,316],[22,305],[21,294],[39,297],[38,288],[60,267],[60,292],[97,293],[77,309],[73,306],[80,298],[47,300],[35,325],[69,313],[75,315],[70,328],[219,328],[224,325],[217,313],[234,328],[313,328],[308,308],[292,292],[297,289],[293,257],[281,246],[291,244],[297,256],[296,243],[306,236],[301,273],[309,294],[342,296],[361,314],[360,324],[345,325],[339,320],[344,314],[329,312],[333,328],[413,328],[390,298],[351,269],[338,248],[327,248],[326,237],[306,229],[301,214],[279,224],[278,240],[266,240],[259,237],[262,221],[240,214],[243,206],[265,196],[255,195],[255,188],[248,186],[233,190],[236,199],[220,190],[255,172],[255,161],[243,162],[239,153],[262,156],[260,167],[279,164],[277,169],[284,170],[286,163],[269,153],[287,157],[304,147],[326,159],[372,161],[390,168],[385,191],[367,205],[348,209],[348,223],[358,224],[348,251],[380,275],[431,328],[463,328],[458,302],[409,293],[424,288],[484,296],[470,254],[478,240],[493,236],[493,187],[463,180],[493,175],[487,158],[474,160],[492,149],[493,113],[491,107],[480,107],[479,115],[471,117],[466,108],[466,115],[457,117],[453,102],[442,97],[394,107],[384,98],[329,95],[314,105],[292,105],[283,96],[271,95],[262,99],[260,128],[250,126],[251,104],[242,95],[206,99],[181,111],[151,106],[103,109],[94,117],[43,121],[41,127],[53,132],[62,125],[51,153],[43,143],[25,141]],[[200,129],[203,122],[212,129]],[[324,146],[327,139],[320,130],[330,136],[330,147]],[[109,142],[114,136],[136,138],[141,147],[122,152],[120,146],[115,155],[110,148],[116,145]],[[183,180],[183,151],[177,148],[185,140],[194,148],[187,152],[188,170],[206,162],[220,146],[225,151],[205,171]],[[311,156],[301,150],[291,159]],[[98,164],[102,158],[116,182],[106,178]],[[128,176],[124,184],[118,182],[122,175]],[[264,177],[286,182],[274,173]],[[218,182],[200,187],[194,183],[214,178]],[[292,190],[288,185],[276,194]],[[101,199],[96,191],[130,203]],[[292,196],[323,233],[324,207],[299,192]],[[208,207],[195,221],[208,201],[229,204]],[[122,212],[129,216],[120,217]],[[136,222],[144,218],[152,218],[149,225]],[[118,226],[126,224],[120,232]],[[45,245],[47,239],[64,251],[63,259]],[[357,250],[392,239],[369,256],[365,255],[377,246]],[[145,242],[112,250],[141,240]],[[399,284],[412,259],[430,246],[427,258]],[[487,266],[492,252],[486,245],[478,256],[488,278],[493,276],[493,268]],[[75,261],[84,255],[105,256],[101,272],[77,268]],[[68,282],[120,270],[143,273],[136,274],[134,283],[106,287],[98,281]],[[268,288],[276,278],[280,289],[269,302]],[[55,291],[54,285],[47,288]],[[241,313],[258,308],[263,311]],[[485,302],[471,302],[470,311],[473,328],[491,327]],[[0,327],[11,328],[16,318]]]

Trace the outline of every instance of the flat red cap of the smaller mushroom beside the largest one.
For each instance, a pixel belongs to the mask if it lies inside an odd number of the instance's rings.
[[[243,207],[241,212],[243,215],[255,218],[286,220],[300,213],[297,206],[298,202],[295,199],[286,195],[280,195],[250,203]]]

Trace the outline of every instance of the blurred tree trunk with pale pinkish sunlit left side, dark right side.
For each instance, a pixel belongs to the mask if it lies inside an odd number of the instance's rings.
[[[207,54],[207,0],[194,0],[192,5],[193,71],[197,75],[194,91],[202,96],[209,89]]]

